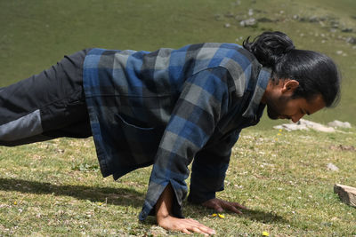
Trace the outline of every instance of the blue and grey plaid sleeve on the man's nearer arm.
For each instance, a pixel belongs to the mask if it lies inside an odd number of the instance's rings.
[[[154,206],[169,183],[174,189],[173,215],[182,217],[188,165],[227,112],[228,78],[226,69],[214,67],[192,75],[184,83],[158,147],[140,220],[154,215]]]

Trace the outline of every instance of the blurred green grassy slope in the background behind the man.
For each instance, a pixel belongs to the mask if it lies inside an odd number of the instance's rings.
[[[254,26],[240,25],[251,18]],[[306,119],[356,124],[354,0],[0,0],[0,22],[0,86],[86,47],[154,51],[188,43],[242,43],[265,30],[283,31],[297,48],[335,59],[343,75],[339,106]],[[263,117],[258,128],[281,122],[286,121]]]

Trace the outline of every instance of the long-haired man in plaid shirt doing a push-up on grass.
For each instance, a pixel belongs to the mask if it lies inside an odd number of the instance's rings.
[[[156,215],[168,230],[213,234],[182,218],[193,158],[188,200],[240,213],[239,203],[215,198],[240,130],[259,122],[266,105],[272,119],[297,122],[331,106],[339,84],[331,59],[295,50],[280,32],[243,47],[90,49],[1,89],[0,145],[93,135],[104,177],[153,164],[141,220]]]

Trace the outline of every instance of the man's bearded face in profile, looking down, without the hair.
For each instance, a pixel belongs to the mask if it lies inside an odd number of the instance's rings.
[[[266,99],[267,113],[271,119],[290,119],[298,122],[303,115],[312,115],[325,107],[325,103],[320,95],[307,101],[303,98],[292,99],[292,96],[282,94],[279,97]]]

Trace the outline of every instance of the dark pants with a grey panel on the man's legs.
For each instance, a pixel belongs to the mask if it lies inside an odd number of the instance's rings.
[[[88,51],[65,56],[38,75],[0,88],[0,146],[92,136],[83,89]]]

